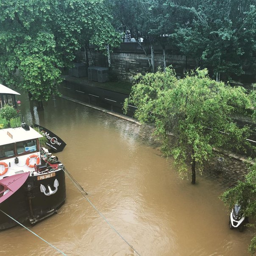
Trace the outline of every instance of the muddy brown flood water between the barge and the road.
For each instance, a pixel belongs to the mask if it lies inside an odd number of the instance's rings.
[[[127,241],[141,256],[249,255],[253,231],[229,229],[218,198],[224,188],[200,176],[196,186],[179,179],[142,126],[60,98],[41,113],[28,106],[23,99],[25,120],[67,143],[56,155],[123,238],[66,177],[66,203],[30,227],[63,253],[136,256]],[[60,255],[20,226],[0,232],[0,254]]]

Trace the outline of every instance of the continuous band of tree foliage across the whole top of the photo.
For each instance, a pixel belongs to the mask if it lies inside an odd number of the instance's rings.
[[[60,69],[71,65],[76,50],[93,44],[111,67],[111,49],[126,30],[142,47],[150,71],[158,42],[164,67],[169,46],[195,58],[217,80],[221,73],[240,75],[255,69],[255,6],[255,0],[2,0],[0,81],[48,100],[58,93]]]

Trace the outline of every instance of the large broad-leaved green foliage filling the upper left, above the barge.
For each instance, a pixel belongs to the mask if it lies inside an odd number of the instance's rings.
[[[58,94],[60,69],[76,50],[118,40],[103,0],[2,0],[0,9],[0,80],[36,101]]]

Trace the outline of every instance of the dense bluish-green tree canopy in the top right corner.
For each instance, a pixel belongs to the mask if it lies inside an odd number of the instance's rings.
[[[196,59],[198,67],[220,74],[241,75],[252,65],[256,46],[255,0],[187,2],[187,21],[173,34],[181,53]],[[250,63],[250,64],[249,64]]]

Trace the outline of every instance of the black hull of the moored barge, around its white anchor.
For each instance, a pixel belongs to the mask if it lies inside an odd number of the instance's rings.
[[[20,223],[35,224],[40,220],[56,213],[57,209],[65,202],[66,183],[64,170],[45,175],[29,176],[27,181],[14,193],[0,204],[0,210],[10,215]],[[54,187],[58,181],[57,189]],[[45,193],[40,190],[41,184]],[[50,189],[49,189],[50,187]],[[49,192],[55,191],[50,195]],[[18,223],[0,211],[0,230],[11,228]]]

